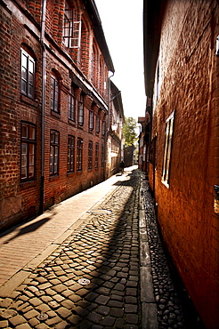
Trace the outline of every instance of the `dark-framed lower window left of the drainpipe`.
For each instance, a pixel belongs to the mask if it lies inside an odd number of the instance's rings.
[[[21,181],[29,181],[35,178],[36,171],[36,126],[34,124],[21,123]]]

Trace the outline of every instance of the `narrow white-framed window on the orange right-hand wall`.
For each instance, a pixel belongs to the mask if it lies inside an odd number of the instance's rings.
[[[172,138],[174,131],[174,112],[166,119],[166,136],[162,182],[169,188],[170,159],[172,149]]]

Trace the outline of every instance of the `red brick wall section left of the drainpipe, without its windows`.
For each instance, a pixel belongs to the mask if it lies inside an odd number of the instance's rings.
[[[3,23],[3,25],[2,25]],[[28,45],[40,59],[40,49],[33,36],[30,36],[16,15],[9,10],[1,11],[1,40],[3,51],[1,63],[4,63],[1,75],[1,180],[0,180],[0,225],[1,229],[20,221],[21,217],[34,215],[38,211],[40,164],[37,164],[37,180],[20,183],[20,122],[28,121],[39,127],[40,116],[40,77],[36,72],[36,98],[28,100],[20,94],[20,46]],[[40,60],[38,60],[40,66]],[[19,91],[19,92],[18,92]],[[40,131],[37,129],[37,138]],[[39,137],[40,145],[40,137]],[[37,147],[37,158],[40,147]],[[36,210],[34,210],[36,207]]]

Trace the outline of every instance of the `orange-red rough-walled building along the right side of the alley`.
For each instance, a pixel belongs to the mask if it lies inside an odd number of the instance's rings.
[[[216,0],[144,1],[150,188],[174,264],[212,329],[219,326],[218,35]]]

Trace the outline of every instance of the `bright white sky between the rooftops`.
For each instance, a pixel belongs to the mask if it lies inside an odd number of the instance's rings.
[[[115,75],[122,92],[125,116],[144,116],[146,97],[143,77],[143,0],[95,0]]]

